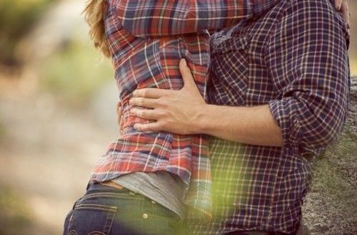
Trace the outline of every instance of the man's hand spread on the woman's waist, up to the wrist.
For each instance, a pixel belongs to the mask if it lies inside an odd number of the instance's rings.
[[[181,90],[144,88],[134,91],[134,97],[129,103],[151,110],[132,108],[131,115],[146,120],[156,120],[149,124],[136,124],[134,125],[136,130],[166,131],[181,135],[199,133],[197,111],[204,110],[206,102],[184,59],[180,61],[180,71],[184,83]]]

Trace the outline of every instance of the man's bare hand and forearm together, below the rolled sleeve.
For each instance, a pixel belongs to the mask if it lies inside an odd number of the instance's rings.
[[[144,88],[134,92],[130,103],[153,110],[131,109],[131,114],[149,120],[137,124],[141,131],[166,131],[182,135],[207,134],[250,145],[281,146],[280,127],[268,105],[246,108],[208,105],[196,87],[184,60],[180,63],[181,90]]]

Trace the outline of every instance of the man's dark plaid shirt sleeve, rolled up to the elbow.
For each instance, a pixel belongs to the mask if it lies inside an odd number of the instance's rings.
[[[346,119],[348,33],[328,1],[292,1],[266,51],[279,97],[269,103],[283,145],[298,155],[318,153]]]

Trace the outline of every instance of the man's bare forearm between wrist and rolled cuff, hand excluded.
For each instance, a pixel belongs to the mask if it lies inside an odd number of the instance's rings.
[[[195,132],[249,145],[283,145],[281,129],[273,120],[268,105],[231,107],[206,105],[198,110]]]

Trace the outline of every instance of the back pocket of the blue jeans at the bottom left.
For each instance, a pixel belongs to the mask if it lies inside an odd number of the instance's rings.
[[[117,207],[78,204],[69,221],[68,234],[109,234]]]

